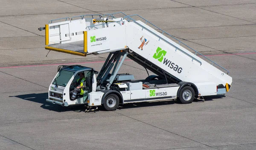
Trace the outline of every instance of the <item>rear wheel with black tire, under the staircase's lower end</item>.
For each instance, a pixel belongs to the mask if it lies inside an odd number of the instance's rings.
[[[185,86],[179,94],[180,102],[183,104],[192,103],[195,99],[195,91],[191,86]]]

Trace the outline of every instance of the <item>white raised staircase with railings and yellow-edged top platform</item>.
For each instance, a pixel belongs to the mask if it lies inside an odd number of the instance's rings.
[[[102,18],[101,16],[93,18],[93,15],[91,18],[84,18],[85,16],[90,15],[78,16],[81,17],[79,20],[49,24],[47,49],[51,50],[52,48],[54,50],[54,48],[58,48],[58,51],[74,51],[81,54],[102,54],[130,49],[147,60],[147,63],[156,65],[180,81],[198,84],[214,82],[216,85],[222,84],[224,86],[232,83],[232,78],[225,68],[138,15],[125,15],[121,18],[114,18],[113,14],[108,14],[108,18]],[[145,21],[145,23],[134,20],[133,17],[140,17],[140,20]],[[93,23],[93,20],[111,20],[112,22]],[[149,25],[158,29],[158,31]],[[179,44],[163,34],[174,38]],[[186,48],[195,51],[195,54]],[[209,60],[211,64],[197,55]],[[218,66],[227,74],[213,65]]]

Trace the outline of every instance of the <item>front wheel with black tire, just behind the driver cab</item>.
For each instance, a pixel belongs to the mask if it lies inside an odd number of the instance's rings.
[[[112,111],[116,110],[119,105],[119,97],[116,94],[109,94],[104,99],[103,106],[105,110]]]

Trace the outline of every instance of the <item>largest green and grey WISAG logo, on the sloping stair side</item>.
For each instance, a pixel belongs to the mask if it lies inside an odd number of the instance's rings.
[[[179,67],[178,65],[175,65],[174,62],[164,57],[165,55],[166,55],[166,51],[158,47],[156,53],[153,55],[153,58],[158,59],[158,61],[163,62],[163,64],[167,65],[169,68],[173,69],[174,71],[177,71],[177,73],[180,74],[182,71],[182,68]]]

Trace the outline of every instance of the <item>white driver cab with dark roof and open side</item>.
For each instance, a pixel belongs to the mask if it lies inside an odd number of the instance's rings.
[[[83,76],[80,77],[81,74]],[[98,72],[93,68],[81,65],[58,66],[58,73],[49,86],[47,102],[62,106],[87,104],[88,94],[96,91],[96,74]],[[71,100],[73,90],[77,86],[81,86],[80,78],[84,79],[82,82],[83,94],[81,95],[80,92],[76,95],[76,99]]]

